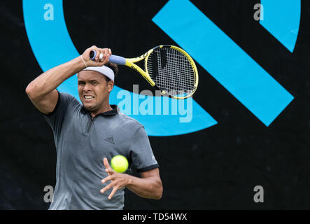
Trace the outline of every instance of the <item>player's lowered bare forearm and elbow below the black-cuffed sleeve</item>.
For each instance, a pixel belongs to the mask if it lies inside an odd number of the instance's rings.
[[[128,175],[128,184],[126,186],[140,197],[160,200],[162,197],[162,181],[157,177],[138,178]]]

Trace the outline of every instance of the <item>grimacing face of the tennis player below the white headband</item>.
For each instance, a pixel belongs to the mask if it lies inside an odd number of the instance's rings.
[[[96,112],[106,106],[113,89],[113,81],[106,82],[104,75],[97,71],[78,73],[78,95],[85,109]]]

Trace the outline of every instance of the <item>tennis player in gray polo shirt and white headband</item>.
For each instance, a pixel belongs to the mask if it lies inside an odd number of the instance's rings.
[[[90,51],[96,50],[94,61]],[[162,181],[143,125],[109,104],[118,73],[108,48],[87,48],[83,55],[45,71],[26,88],[55,139],[56,186],[49,209],[122,209],[124,188],[160,200]],[[56,87],[78,73],[80,102]],[[109,162],[124,155],[141,178],[120,174]]]

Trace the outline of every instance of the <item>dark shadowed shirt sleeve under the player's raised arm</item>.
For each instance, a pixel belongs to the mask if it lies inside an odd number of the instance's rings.
[[[66,109],[68,108],[70,102],[72,101],[72,98],[73,97],[70,94],[58,92],[58,100],[54,111],[48,114],[42,113],[45,120],[52,128],[55,137],[59,137],[59,134],[62,130],[62,122],[66,114]]]

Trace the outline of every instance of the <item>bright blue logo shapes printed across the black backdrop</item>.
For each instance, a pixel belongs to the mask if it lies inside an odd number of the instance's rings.
[[[48,6],[52,6],[52,20],[45,20],[44,13],[47,3]],[[300,1],[286,0],[279,4],[279,0],[265,0],[262,3],[264,4],[265,20],[261,21],[261,25],[293,52],[300,24]],[[276,8],[279,5],[282,7]],[[62,1],[23,0],[23,11],[29,43],[43,71],[80,55],[66,29]],[[279,26],[278,21],[283,26]],[[283,23],[283,21],[285,22]],[[155,15],[153,22],[173,38],[178,45],[188,51],[206,71],[209,71],[265,125],[268,126],[272,123],[293,100],[293,96],[267,71],[262,69],[190,1],[168,1]],[[72,76],[62,83],[58,90],[69,92],[79,99],[76,76]],[[117,97],[120,91],[124,90],[115,86],[111,92],[113,104],[120,102]],[[138,98],[138,101],[139,97],[141,99],[139,94],[128,93],[131,99]],[[151,102],[160,102],[161,109],[165,105],[178,104],[178,102],[174,102],[174,99],[162,100],[162,97],[159,99],[159,97],[147,96],[146,99]],[[181,115],[142,116],[138,114],[130,116],[139,120],[150,136],[187,134],[203,130],[217,123],[194,100],[192,100],[190,123],[180,123]]]

